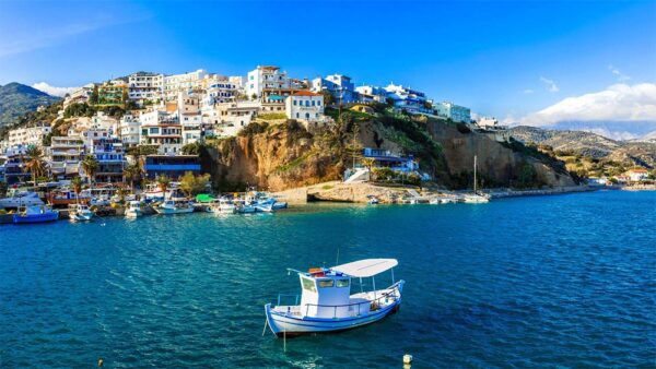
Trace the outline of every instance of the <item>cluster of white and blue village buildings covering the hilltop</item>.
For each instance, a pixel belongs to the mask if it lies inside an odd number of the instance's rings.
[[[372,104],[386,104],[407,115],[471,121],[466,107],[434,103],[402,85],[356,87],[342,74],[298,80],[272,66],[258,66],[246,78],[204,70],[175,75],[138,72],[84,85],[63,102],[27,115],[0,141],[7,157],[3,175],[10,184],[25,181],[28,174],[19,162],[28,147],[36,146],[43,147],[52,179],[84,176],[80,164],[92,155],[101,166],[98,180],[121,181],[126,154],[139,147],[160,166],[179,166],[179,172],[166,172],[175,178],[198,167],[189,165],[194,158],[183,155],[185,145],[235,136],[258,119],[294,120],[318,130],[335,122],[327,108],[355,106],[367,111]]]

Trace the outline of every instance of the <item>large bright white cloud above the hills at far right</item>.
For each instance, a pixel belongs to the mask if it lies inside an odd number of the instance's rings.
[[[600,92],[567,97],[522,119],[529,126],[563,121],[656,122],[656,84],[614,84]]]

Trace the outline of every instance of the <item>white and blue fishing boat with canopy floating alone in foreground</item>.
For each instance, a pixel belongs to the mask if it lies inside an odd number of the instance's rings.
[[[405,281],[394,281],[396,259],[365,259],[329,269],[297,273],[302,295],[294,305],[267,303],[267,323],[278,336],[349,330],[376,322],[398,310]],[[391,271],[391,285],[376,289],[375,276]],[[362,278],[372,277],[373,290],[362,289]],[[361,291],[351,295],[351,284],[360,279]]]

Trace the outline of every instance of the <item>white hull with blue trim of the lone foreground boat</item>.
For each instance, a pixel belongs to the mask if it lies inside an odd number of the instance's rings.
[[[382,320],[383,318],[396,312],[401,303],[401,298],[398,298],[395,302],[386,306],[385,308],[363,314],[361,317],[350,317],[341,319],[325,319],[325,318],[311,318],[303,317],[296,318],[289,314],[284,314],[278,311],[273,311],[271,303],[265,306],[267,313],[267,323],[277,336],[283,335],[294,336],[304,335],[312,333],[329,333],[351,330],[354,328],[363,326]]]

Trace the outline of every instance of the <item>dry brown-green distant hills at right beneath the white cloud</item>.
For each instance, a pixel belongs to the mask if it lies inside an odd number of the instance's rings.
[[[626,166],[656,168],[656,142],[648,140],[648,136],[642,141],[620,141],[591,132],[548,130],[528,126],[512,128],[511,135],[524,143],[551,146],[554,151],[574,152]]]

